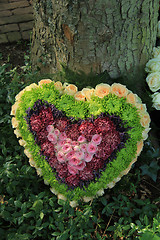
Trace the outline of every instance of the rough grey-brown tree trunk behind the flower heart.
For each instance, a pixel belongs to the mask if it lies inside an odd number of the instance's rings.
[[[33,66],[134,78],[156,43],[159,0],[33,0]]]

